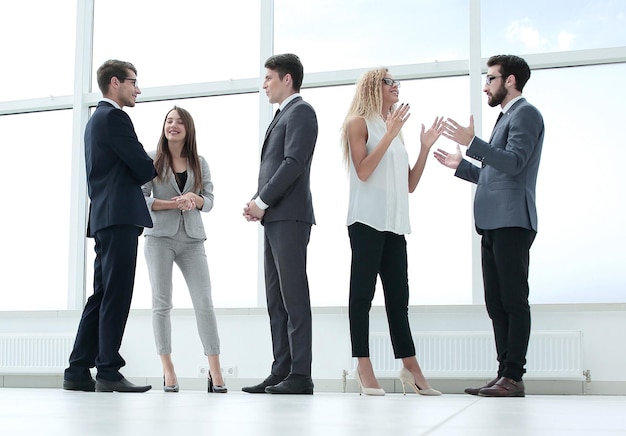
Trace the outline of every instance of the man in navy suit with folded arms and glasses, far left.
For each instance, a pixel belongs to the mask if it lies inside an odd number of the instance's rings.
[[[119,372],[119,353],[135,281],[137,239],[152,227],[141,185],[156,176],[152,159],[122,110],[135,106],[137,70],[109,60],[97,72],[102,91],[85,129],[87,187],[91,200],[87,236],[95,239],[94,293],[78,325],[63,388],[75,391],[145,392]],[[97,368],[96,380],[90,368]]]

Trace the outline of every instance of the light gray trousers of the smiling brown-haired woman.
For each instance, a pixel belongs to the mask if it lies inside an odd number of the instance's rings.
[[[189,288],[204,354],[219,354],[220,339],[204,241],[187,236],[181,219],[178,232],[172,237],[146,236],[144,253],[152,285],[152,327],[157,353],[172,353],[170,311],[172,269],[176,262]]]

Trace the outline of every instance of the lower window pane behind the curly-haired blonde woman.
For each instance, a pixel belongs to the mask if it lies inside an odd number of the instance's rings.
[[[421,124],[430,127],[436,116],[468,107],[468,95],[463,93],[466,88],[466,78],[402,82],[400,99],[411,104],[411,119],[403,129],[411,165],[419,152]],[[302,94],[315,108],[319,123],[311,176],[317,219],[309,243],[311,301],[315,305],[345,306],[350,277],[348,178],[339,138],[354,86],[306,89]],[[455,101],[454,107],[448,106],[451,101]],[[449,146],[446,142],[442,138],[435,147]],[[471,188],[438,165],[429,159],[417,190],[410,196],[410,302],[470,303],[471,263],[466,259],[471,256],[471,227],[470,215],[464,211],[471,205]],[[449,274],[450,269],[455,274]],[[383,301],[378,291],[374,304],[382,305]]]

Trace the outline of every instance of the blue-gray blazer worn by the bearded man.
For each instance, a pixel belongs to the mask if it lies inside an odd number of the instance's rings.
[[[523,227],[537,231],[535,186],[543,135],[541,114],[522,98],[496,124],[488,143],[477,137],[471,142],[467,156],[482,161],[482,168],[463,160],[455,176],[477,184],[477,229]]]

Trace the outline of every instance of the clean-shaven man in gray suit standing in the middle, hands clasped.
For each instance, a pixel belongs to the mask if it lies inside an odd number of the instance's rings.
[[[315,224],[310,190],[317,140],[315,111],[300,97],[304,71],[294,54],[270,57],[263,89],[279,105],[261,152],[258,190],[244,208],[265,232],[265,293],[274,362],[249,393],[312,394],[311,303],[306,255]]]

